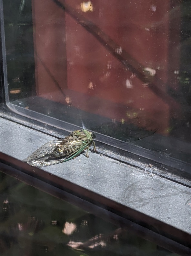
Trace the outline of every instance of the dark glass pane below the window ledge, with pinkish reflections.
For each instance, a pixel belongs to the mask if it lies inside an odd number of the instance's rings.
[[[0,172],[1,255],[177,256]]]

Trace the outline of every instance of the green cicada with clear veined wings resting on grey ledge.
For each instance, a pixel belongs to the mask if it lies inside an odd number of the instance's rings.
[[[94,145],[94,150],[97,152],[95,137],[94,133],[87,130],[74,131],[63,139],[45,143],[23,161],[32,166],[44,167],[69,161],[84,150],[87,150],[86,157],[89,157],[88,152],[91,144]]]

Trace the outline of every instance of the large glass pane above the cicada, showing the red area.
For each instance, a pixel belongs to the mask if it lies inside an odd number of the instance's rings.
[[[190,0],[3,5],[7,104],[191,163]]]

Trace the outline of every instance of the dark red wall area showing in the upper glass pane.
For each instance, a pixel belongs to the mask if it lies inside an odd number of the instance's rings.
[[[105,32],[119,45],[114,51],[129,54],[132,62],[140,64],[137,70],[165,95],[170,77],[169,0],[60,2],[79,14],[79,22],[84,19]],[[33,17],[39,96],[121,122],[132,119],[140,127],[156,126],[167,133],[171,110],[176,107],[173,100],[152,90],[54,1],[34,0]],[[178,43],[178,29],[174,37]],[[170,57],[173,69],[178,68],[178,54]],[[177,79],[173,79],[176,88]]]

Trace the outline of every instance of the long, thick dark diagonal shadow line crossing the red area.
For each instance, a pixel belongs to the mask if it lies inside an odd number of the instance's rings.
[[[85,19],[83,15],[76,12],[73,8],[67,4],[61,3],[59,0],[52,0],[58,7],[67,12],[75,21],[78,22],[83,28],[90,32],[123,66],[129,71],[134,73],[143,83],[148,83],[148,87],[162,100],[166,102],[171,108],[177,108],[177,103],[170,95],[161,88],[161,79],[156,75],[156,82],[153,83],[153,77],[148,76],[145,71],[145,67],[137,62],[128,52],[122,50],[121,53],[117,53],[116,49],[120,48],[113,39],[111,39],[103,30],[101,30],[92,21]]]

